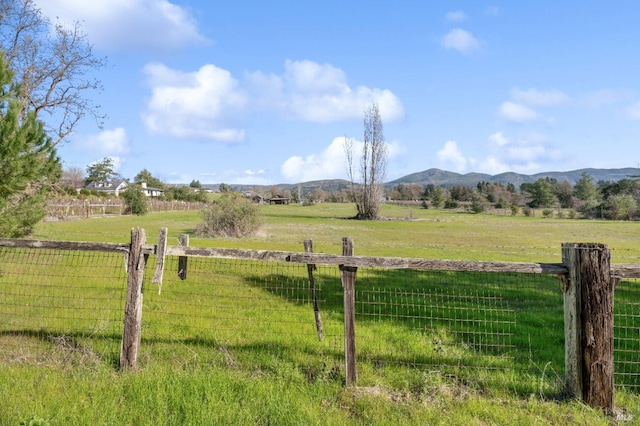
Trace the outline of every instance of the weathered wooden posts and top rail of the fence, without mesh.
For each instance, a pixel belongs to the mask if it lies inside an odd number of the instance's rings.
[[[322,339],[322,321],[315,300],[314,268],[316,265],[337,266],[343,288],[347,385],[355,385],[358,380],[355,283],[359,268],[555,275],[562,283],[564,294],[566,390],[590,406],[613,412],[613,295],[621,279],[640,278],[640,265],[611,265],[610,251],[605,245],[566,243],[562,245],[562,263],[516,263],[354,256],[350,238],[343,239],[341,255],[313,253],[311,241],[305,241],[304,252],[189,247],[186,235],[181,236],[180,244],[167,244],[166,228],[161,230],[157,244],[147,243],[144,229],[133,229],[129,244],[0,239],[0,248],[102,251],[125,255],[128,280],[120,353],[120,366],[123,369],[134,369],[138,363],[142,286],[149,255],[156,256],[152,282],[158,284],[158,291],[162,287],[167,256],[178,257],[179,270],[176,272],[181,279],[189,274],[190,258],[246,259],[307,265],[319,339]],[[635,374],[640,375],[640,372]]]

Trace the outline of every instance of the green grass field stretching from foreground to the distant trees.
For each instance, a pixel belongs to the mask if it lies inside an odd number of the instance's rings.
[[[168,227],[172,245],[188,233],[192,246],[303,251],[302,241],[310,238],[314,251],[339,254],[342,237],[351,236],[357,255],[521,262],[560,262],[563,242],[599,242],[609,245],[613,263],[640,263],[636,223],[399,206],[384,207],[386,220],[361,222],[348,219],[354,212],[346,204],[264,206],[263,211],[265,224],[258,235],[242,240],[195,237],[198,212],[45,222],[33,238],[127,242],[130,229],[141,226],[154,242],[158,229]],[[0,424],[612,422],[597,410],[562,399],[563,353],[557,350],[563,339],[561,316],[558,320],[562,298],[555,277],[525,282],[519,275],[497,279],[491,274],[414,271],[398,278],[384,270],[361,271],[356,286],[360,386],[345,388],[342,294],[335,269],[317,271],[325,329],[320,343],[310,319],[306,267],[273,264],[260,269],[251,262],[194,261],[182,282],[168,273],[176,269],[175,259],[170,260],[161,295],[145,284],[141,368],[121,372],[122,314],[112,306],[123,295],[108,284],[123,274],[118,261],[101,267],[90,259],[71,259],[84,267],[69,278],[53,266],[64,259],[38,270],[3,258],[0,315],[23,318],[27,323],[13,328],[31,333],[0,336],[0,394],[7,396],[0,401]],[[153,264],[147,276],[152,271]],[[1,284],[11,274],[49,278],[32,289],[25,281],[23,290],[11,293]],[[216,277],[215,285],[195,293],[194,283],[206,284],[210,276]],[[75,305],[80,299],[76,285],[99,289],[83,314]],[[50,288],[65,298],[52,304],[45,297],[37,303],[38,295]],[[620,300],[633,309],[637,283],[623,282],[621,289]],[[15,306],[23,306],[20,315],[2,308],[9,303],[7,295]],[[439,311],[445,299],[451,308]],[[427,308],[429,315],[416,314]],[[56,310],[67,314],[51,330],[43,330],[38,317]],[[482,321],[486,312],[493,315],[490,322]],[[433,320],[451,315],[458,318],[453,328]],[[430,318],[428,324],[424,318]],[[495,341],[483,340],[483,328],[496,327],[491,324],[497,320],[509,328],[514,318],[518,332],[509,341],[501,340],[502,329],[488,330]],[[640,327],[637,318],[633,312],[625,316],[631,321],[625,330],[631,334]],[[74,334],[69,330],[78,319],[87,325]],[[464,321],[474,325],[456,328]],[[12,324],[2,326],[11,329]],[[54,332],[62,332],[64,339],[48,337]],[[625,356],[637,359],[638,339],[629,342],[635,343],[629,343]],[[479,351],[481,345],[487,348]],[[513,363],[518,368],[511,368]],[[616,403],[621,418],[631,419],[625,424],[638,423],[637,388],[618,390]]]

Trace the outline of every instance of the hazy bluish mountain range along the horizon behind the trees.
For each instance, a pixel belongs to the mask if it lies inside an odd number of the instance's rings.
[[[535,182],[541,178],[553,178],[559,182],[568,181],[571,184],[575,184],[581,177],[582,173],[586,173],[594,180],[594,182],[617,182],[622,179],[629,179],[631,177],[640,176],[640,168],[627,167],[623,169],[580,169],[569,172],[544,172],[536,173],[533,175],[524,175],[514,172],[500,173],[497,175],[489,175],[485,173],[466,173],[460,174],[455,172],[448,172],[440,169],[428,169],[418,173],[412,173],[410,175],[401,177],[390,182],[385,183],[386,188],[392,188],[397,185],[417,183],[423,186],[433,184],[436,186],[442,186],[450,188],[452,186],[476,186],[480,181],[486,182],[500,182],[503,184],[513,183],[516,187],[525,182]],[[206,188],[218,189],[219,184],[216,185],[203,185]],[[258,189],[269,190],[276,186],[280,191],[289,190],[291,192],[297,191],[298,186],[303,193],[312,192],[316,189],[322,189],[327,192],[335,192],[340,189],[347,189],[349,182],[344,179],[329,179],[329,180],[316,180],[310,182],[301,183],[281,183],[277,185],[230,185],[234,191],[255,191]]]

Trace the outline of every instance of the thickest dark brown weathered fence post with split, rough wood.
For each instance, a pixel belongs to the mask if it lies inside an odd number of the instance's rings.
[[[603,244],[562,245],[567,391],[591,407],[614,410],[611,253]]]

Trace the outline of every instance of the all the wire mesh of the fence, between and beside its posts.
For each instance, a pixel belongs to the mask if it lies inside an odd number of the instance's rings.
[[[0,362],[117,365],[127,273],[123,255],[0,247]],[[310,379],[344,370],[339,268],[167,256],[160,289],[144,280],[141,367],[199,365],[256,374],[295,364]],[[618,386],[640,389],[640,283],[615,292]],[[523,392],[558,389],[563,291],[554,275],[361,267],[356,281],[361,384],[388,370],[437,372]],[[315,300],[314,300],[315,295]],[[321,324],[314,317],[319,309]],[[321,332],[319,330],[321,327]]]

